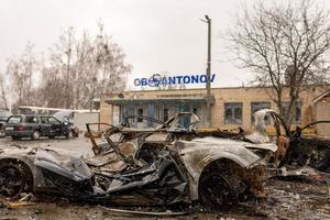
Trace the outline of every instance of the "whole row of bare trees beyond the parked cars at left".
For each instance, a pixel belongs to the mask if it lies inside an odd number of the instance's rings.
[[[0,75],[0,99],[8,107],[7,97],[19,106],[31,105],[53,108],[91,108],[92,100],[103,92],[124,89],[131,66],[124,62],[121,47],[103,32],[99,23],[96,37],[84,32],[79,38],[69,28],[59,36],[46,58],[37,61],[33,45],[28,44],[24,53],[11,59],[6,76]],[[38,76],[41,74],[41,77]],[[6,86],[12,91],[7,94]]]

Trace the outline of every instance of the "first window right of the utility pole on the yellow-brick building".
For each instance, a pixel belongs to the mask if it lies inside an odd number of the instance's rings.
[[[242,123],[242,102],[227,102],[224,103],[224,123],[241,124]]]

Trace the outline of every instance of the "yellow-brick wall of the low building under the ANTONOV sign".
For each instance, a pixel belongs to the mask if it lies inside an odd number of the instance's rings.
[[[315,119],[315,107],[312,100],[324,91],[324,88],[314,87],[306,91],[301,91],[299,102],[301,103],[301,120],[300,124],[306,124]],[[211,107],[212,123],[211,127],[222,129],[234,129],[242,127],[249,129],[251,124],[251,102],[271,102],[271,108],[277,110],[275,102],[271,101],[270,94],[273,92],[272,88],[215,88],[211,94],[215,96],[215,105]],[[120,95],[127,99],[157,99],[161,97],[172,97],[178,100],[182,97],[205,97],[205,89],[186,89],[186,90],[147,90],[147,91],[125,91]],[[100,110],[101,121],[111,123],[111,108],[106,103],[106,100],[116,99],[118,95],[105,95],[101,98]],[[288,101],[288,89],[284,90],[284,100]],[[226,102],[242,102],[242,123],[241,124],[226,124],[224,123],[224,103]],[[329,107],[327,107],[329,108]],[[119,109],[117,109],[119,111]],[[144,110],[145,112],[146,110]],[[206,120],[205,106],[201,108],[201,120]]]

